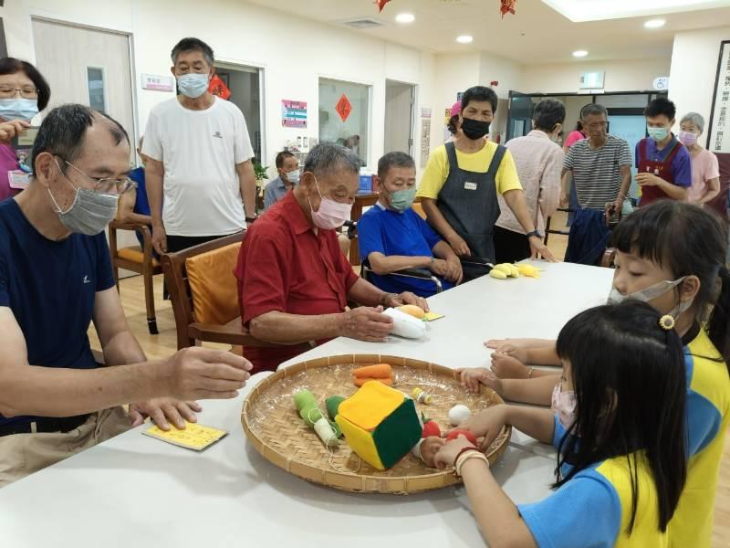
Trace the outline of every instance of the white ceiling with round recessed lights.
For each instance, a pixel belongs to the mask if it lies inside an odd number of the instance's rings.
[[[571,53],[576,49],[589,51],[589,57],[583,60],[669,58],[675,32],[730,26],[730,7],[700,9],[693,6],[689,11],[668,13],[662,15],[667,24],[650,31],[643,27],[643,22],[661,10],[641,17],[573,23],[539,0],[518,0],[516,15],[508,14],[504,19],[499,14],[499,0],[391,0],[381,14],[373,0],[248,1],[286,12],[289,16],[306,17],[343,29],[349,29],[344,21],[375,19],[383,26],[349,30],[434,53],[488,51],[522,64],[570,61]],[[641,4],[641,0],[632,1]],[[717,2],[704,4],[718,5]],[[681,8],[675,5],[674,9]],[[396,24],[395,16],[403,12],[415,15],[415,22]],[[464,34],[474,36],[474,42],[457,44],[455,38]]]

